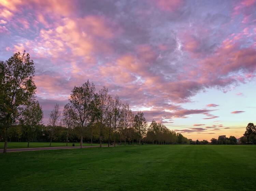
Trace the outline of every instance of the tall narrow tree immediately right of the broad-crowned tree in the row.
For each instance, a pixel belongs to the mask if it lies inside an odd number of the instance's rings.
[[[100,147],[102,146],[103,128],[108,124],[111,104],[112,97],[108,93],[108,88],[103,87],[97,94],[97,121],[100,129]]]

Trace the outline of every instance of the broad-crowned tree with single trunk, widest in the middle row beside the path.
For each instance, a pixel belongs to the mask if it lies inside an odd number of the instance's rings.
[[[74,87],[69,103],[64,107],[63,116],[68,116],[79,129],[81,149],[85,130],[93,124],[95,119],[95,99],[95,86],[87,80],[82,86]]]

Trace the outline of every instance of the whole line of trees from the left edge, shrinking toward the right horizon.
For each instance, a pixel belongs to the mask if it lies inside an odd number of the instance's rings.
[[[36,99],[33,81],[34,64],[29,54],[14,53],[0,62],[0,139],[4,152],[9,141],[80,141],[90,140],[124,144],[137,141],[152,144],[189,143],[179,133],[170,131],[154,120],[148,127],[143,112],[134,115],[128,103],[118,95],[112,97],[108,88],[95,92],[89,80],[75,86],[63,111],[56,104],[49,115],[48,125],[42,124],[43,111]]]

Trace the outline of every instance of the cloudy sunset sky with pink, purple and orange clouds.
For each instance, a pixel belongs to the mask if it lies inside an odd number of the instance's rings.
[[[193,140],[256,123],[256,0],[0,0],[0,60],[26,50],[47,124],[90,80]]]

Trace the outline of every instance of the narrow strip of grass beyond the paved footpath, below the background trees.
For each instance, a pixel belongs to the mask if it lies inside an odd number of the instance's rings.
[[[30,142],[30,148],[37,148],[37,147],[49,147],[49,142]],[[72,146],[73,143],[68,143],[68,146]],[[89,146],[91,144],[83,143],[84,146]],[[93,145],[100,145],[100,144],[93,144]],[[0,142],[0,149],[3,149],[4,142]],[[27,148],[27,142],[8,142],[7,149],[19,149],[19,148]],[[66,146],[66,143],[62,142],[52,142],[53,146]],[[80,146],[80,143],[75,143],[75,146]]]

